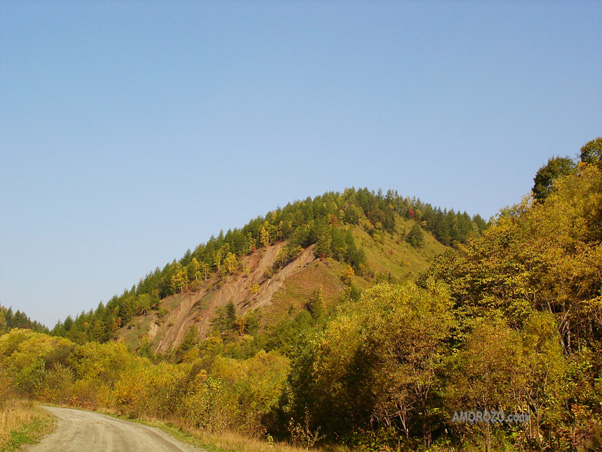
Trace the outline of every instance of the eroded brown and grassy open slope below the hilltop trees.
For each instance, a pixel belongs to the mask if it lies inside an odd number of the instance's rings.
[[[194,290],[164,298],[159,310],[136,316],[118,331],[118,337],[133,349],[148,341],[154,353],[165,354],[182,343],[191,326],[197,329],[201,340],[209,337],[214,332],[212,322],[229,303],[237,318],[257,316],[261,318],[259,327],[265,328],[306,309],[318,290],[322,291],[325,304],[331,306],[351,286],[365,289],[375,280],[413,278],[446,247],[428,233],[423,246],[412,247],[404,240],[404,231],[411,229],[415,221],[397,217],[396,223],[390,233],[376,239],[359,226],[347,226],[366,256],[364,267],[369,270],[362,276],[351,272],[352,267],[345,262],[316,257],[316,244],[274,270],[279,253],[289,245],[283,241],[243,257],[240,264],[245,270],[240,273],[212,275]],[[348,277],[347,272],[352,275]],[[248,325],[239,330],[247,333]]]

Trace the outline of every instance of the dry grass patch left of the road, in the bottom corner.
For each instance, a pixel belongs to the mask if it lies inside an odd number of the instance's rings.
[[[52,415],[33,402],[7,399],[2,401],[0,408],[0,452],[17,451],[24,444],[36,444],[54,428]]]

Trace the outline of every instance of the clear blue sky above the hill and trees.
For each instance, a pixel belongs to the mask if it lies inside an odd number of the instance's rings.
[[[488,218],[602,135],[596,1],[0,0],[0,303],[48,326],[345,187]]]

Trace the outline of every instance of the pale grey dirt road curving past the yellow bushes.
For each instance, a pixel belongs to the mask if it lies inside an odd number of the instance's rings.
[[[156,428],[122,421],[103,414],[67,408],[43,407],[58,423],[29,452],[201,452]],[[206,452],[206,451],[204,451]]]

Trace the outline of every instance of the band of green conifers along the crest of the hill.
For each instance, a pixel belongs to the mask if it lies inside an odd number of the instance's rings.
[[[396,225],[403,220],[411,220],[407,230],[396,231]],[[391,190],[386,194],[368,189],[325,193],[268,212],[241,229],[220,232],[194,251],[188,250],[180,260],[174,260],[163,269],[157,267],[106,305],[100,303],[94,311],[67,317],[52,333],[80,343],[113,339],[117,331],[136,316],[158,311],[160,300],[198,290],[211,277],[223,279],[241,274],[246,271],[242,262],[245,256],[278,243],[285,246],[276,257],[275,270],[313,245],[316,257],[346,263],[355,274],[374,279],[376,275],[366,264],[365,252],[351,231],[353,227],[365,231],[376,242],[382,242],[385,235],[395,234],[419,248],[424,241],[424,231],[443,245],[456,246],[466,243],[471,235],[480,234],[487,224],[479,215],[470,217],[466,213],[442,210]]]

